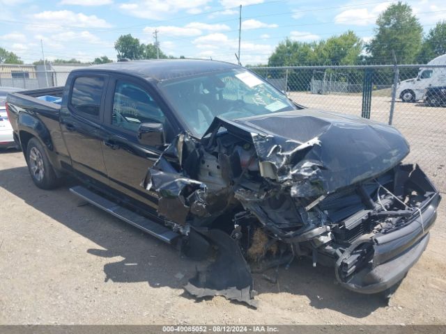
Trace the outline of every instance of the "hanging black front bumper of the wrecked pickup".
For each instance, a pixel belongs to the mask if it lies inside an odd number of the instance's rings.
[[[347,289],[362,294],[385,291],[406,276],[426,249],[441,197],[420,168],[415,172],[413,181],[431,196],[406,225],[358,239],[346,249],[336,262],[335,273]]]

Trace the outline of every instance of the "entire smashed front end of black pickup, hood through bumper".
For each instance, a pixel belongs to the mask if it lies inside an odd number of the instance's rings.
[[[194,296],[255,306],[251,272],[297,257],[334,267],[366,294],[399,283],[429,240],[438,191],[397,130],[364,120],[291,111],[215,118],[197,140],[183,133],[144,182],[185,249],[217,260],[190,280]],[[272,120],[272,118],[275,118]]]

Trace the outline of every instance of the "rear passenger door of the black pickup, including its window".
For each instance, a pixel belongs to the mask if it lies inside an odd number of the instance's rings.
[[[70,80],[68,101],[61,108],[61,132],[72,168],[81,176],[108,184],[102,157],[101,125],[109,77],[80,72]]]

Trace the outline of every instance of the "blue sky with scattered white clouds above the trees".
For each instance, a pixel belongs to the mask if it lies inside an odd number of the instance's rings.
[[[410,0],[427,33],[446,19],[445,0]],[[25,63],[42,58],[99,56],[116,61],[114,42],[131,33],[171,56],[236,63],[239,6],[242,5],[240,61],[267,63],[285,38],[311,42],[354,31],[365,42],[376,18],[395,1],[374,0],[0,0],[0,47]],[[443,4],[443,6],[442,6]]]

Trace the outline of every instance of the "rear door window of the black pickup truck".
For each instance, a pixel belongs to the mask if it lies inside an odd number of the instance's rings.
[[[78,77],[72,87],[70,104],[78,113],[99,118],[104,77]]]

